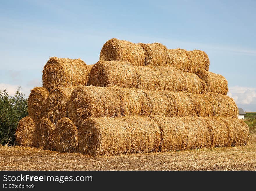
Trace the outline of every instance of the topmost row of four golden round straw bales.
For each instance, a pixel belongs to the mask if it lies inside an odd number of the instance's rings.
[[[175,66],[184,72],[196,73],[199,69],[209,70],[210,61],[204,51],[167,49],[160,43],[132,43],[112,38],[100,51],[100,60],[127,61],[135,66]]]

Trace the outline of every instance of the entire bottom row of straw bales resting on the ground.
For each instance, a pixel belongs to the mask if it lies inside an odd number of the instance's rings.
[[[79,129],[66,117],[56,125],[24,117],[16,130],[21,146],[109,156],[243,146],[248,140],[248,125],[232,117],[100,117],[84,120]]]

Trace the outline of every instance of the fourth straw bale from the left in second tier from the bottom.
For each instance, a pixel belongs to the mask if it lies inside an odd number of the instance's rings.
[[[119,88],[121,101],[121,115],[142,115],[142,107],[145,102],[144,92],[138,89]]]

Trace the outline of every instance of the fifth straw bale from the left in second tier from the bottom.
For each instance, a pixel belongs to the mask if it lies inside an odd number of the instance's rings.
[[[172,107],[168,103],[168,99],[163,92],[145,91],[145,101],[142,106],[143,115],[162,115],[170,116]]]

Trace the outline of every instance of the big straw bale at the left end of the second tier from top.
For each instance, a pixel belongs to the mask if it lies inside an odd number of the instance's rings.
[[[90,71],[80,58],[51,57],[42,72],[43,86],[50,91],[55,87],[87,85]]]

